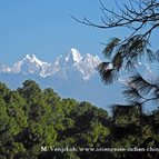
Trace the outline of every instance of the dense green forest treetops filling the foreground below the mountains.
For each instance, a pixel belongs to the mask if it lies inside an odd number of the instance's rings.
[[[0,83],[0,159],[156,159],[158,152],[106,151],[159,146],[159,110],[139,112],[113,106],[110,116],[51,88],[41,90],[32,80],[17,90]]]

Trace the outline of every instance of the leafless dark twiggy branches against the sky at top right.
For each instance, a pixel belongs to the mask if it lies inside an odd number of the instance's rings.
[[[117,0],[115,2],[119,11],[106,8],[102,0],[100,0],[102,24],[97,24],[86,17],[83,20],[71,17],[82,24],[100,29],[121,27],[131,29],[132,32],[126,38],[127,40],[142,30],[142,37],[146,37],[148,40],[152,31],[159,26],[159,2],[157,0],[129,0],[127,4],[119,4]]]

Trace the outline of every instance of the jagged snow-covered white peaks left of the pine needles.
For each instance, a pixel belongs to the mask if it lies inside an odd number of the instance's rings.
[[[1,66],[1,73],[38,74],[41,78],[58,77],[68,79],[74,72],[83,80],[89,80],[96,72],[97,66],[101,62],[98,56],[86,54],[72,48],[66,56],[60,56],[54,62],[48,63],[39,60],[34,54],[27,54],[13,66]]]

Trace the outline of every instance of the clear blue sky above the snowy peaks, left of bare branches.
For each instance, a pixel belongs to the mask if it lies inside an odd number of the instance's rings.
[[[70,14],[100,22],[99,0],[0,0],[0,63],[11,64],[27,53],[51,62],[72,47],[102,57],[100,42],[127,32],[87,27]]]

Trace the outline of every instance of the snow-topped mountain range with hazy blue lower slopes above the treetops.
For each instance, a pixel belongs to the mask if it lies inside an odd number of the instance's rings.
[[[99,77],[97,66],[101,63],[98,56],[85,54],[72,48],[53,62],[39,60],[34,54],[27,54],[12,66],[0,66],[0,81],[10,88],[21,87],[27,79],[36,80],[42,88],[51,87],[63,98],[76,98],[105,107],[120,100],[119,85],[106,87]]]

